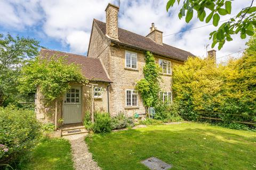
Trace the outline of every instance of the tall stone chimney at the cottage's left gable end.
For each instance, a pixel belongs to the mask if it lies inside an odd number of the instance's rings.
[[[119,7],[109,3],[105,11],[106,11],[106,36],[118,40]]]

